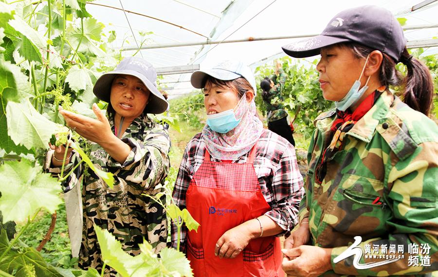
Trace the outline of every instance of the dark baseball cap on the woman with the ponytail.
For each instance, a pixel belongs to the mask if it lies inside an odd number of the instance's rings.
[[[334,16],[321,35],[283,46],[296,58],[319,55],[323,47],[357,42],[399,61],[406,46],[403,29],[390,11],[372,5],[344,10]]]

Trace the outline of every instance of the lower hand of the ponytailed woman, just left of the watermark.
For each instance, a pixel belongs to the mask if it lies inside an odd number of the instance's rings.
[[[301,245],[281,251],[287,257],[283,259],[281,266],[288,277],[316,277],[332,269],[329,248]]]

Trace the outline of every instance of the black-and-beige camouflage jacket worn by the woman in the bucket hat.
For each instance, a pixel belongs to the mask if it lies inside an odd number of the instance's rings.
[[[110,116],[109,121],[114,133],[114,121]],[[78,166],[63,183],[67,192],[74,185],[80,184],[83,178],[84,222],[79,253],[79,266],[83,269],[92,267],[100,271],[103,265],[93,224],[110,231],[131,255],[140,253],[138,244],[144,239],[152,244],[155,253],[166,247],[167,222],[164,208],[143,194],[154,196],[164,191],[162,185],[169,169],[168,133],[161,125],[142,115],[126,129],[122,141],[132,148],[123,165],[98,144],[88,142],[94,166],[114,174],[113,188],[108,187],[91,169],[84,172],[84,164]],[[50,167],[52,155],[53,151],[46,155],[46,171],[59,173],[59,167]],[[79,160],[79,155],[74,153],[72,162],[64,171],[69,172]],[[165,196],[161,200],[165,203]],[[106,270],[106,276],[116,275],[114,270],[110,271]]]

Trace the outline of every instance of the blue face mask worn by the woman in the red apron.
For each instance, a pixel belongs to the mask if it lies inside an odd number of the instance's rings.
[[[245,95],[240,98],[236,108],[240,105],[242,99],[244,98],[246,99]],[[237,125],[239,125],[240,120],[242,120],[242,118],[236,119],[236,114],[234,113],[236,108],[215,114],[207,114],[207,125],[215,132],[222,134],[228,133],[232,129],[236,128]]]

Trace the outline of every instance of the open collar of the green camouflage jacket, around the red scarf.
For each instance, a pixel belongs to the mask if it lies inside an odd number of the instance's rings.
[[[366,143],[370,142],[376,127],[388,114],[389,108],[394,102],[394,95],[387,90],[377,99],[376,104],[351,128],[347,135],[353,136]],[[321,113],[313,124],[318,129],[327,131],[336,116],[336,109]]]

